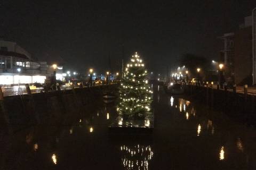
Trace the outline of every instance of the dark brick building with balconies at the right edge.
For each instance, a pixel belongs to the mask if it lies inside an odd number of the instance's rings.
[[[252,16],[246,16],[239,29],[219,37],[224,40],[219,63],[224,64],[225,79],[238,85],[252,84]]]

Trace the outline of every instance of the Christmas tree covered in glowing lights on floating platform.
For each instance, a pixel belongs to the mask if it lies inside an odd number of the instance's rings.
[[[150,111],[153,91],[148,85],[147,70],[135,53],[123,73],[117,111],[125,115],[145,115]]]

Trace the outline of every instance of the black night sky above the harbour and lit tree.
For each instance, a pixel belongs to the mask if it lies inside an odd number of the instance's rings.
[[[185,53],[216,59],[217,39],[238,29],[256,1],[1,1],[0,35],[39,61],[81,73],[113,71],[140,53],[149,70],[165,73]]]

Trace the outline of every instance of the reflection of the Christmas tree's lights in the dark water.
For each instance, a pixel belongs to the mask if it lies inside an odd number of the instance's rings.
[[[150,146],[121,146],[124,154],[122,164],[125,169],[148,169],[149,160],[153,158],[154,152]]]

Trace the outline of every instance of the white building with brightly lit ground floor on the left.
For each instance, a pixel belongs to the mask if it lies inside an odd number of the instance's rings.
[[[17,43],[0,40],[0,84],[44,83],[54,70],[57,78],[62,79],[62,67],[53,68],[46,62],[37,62]]]

